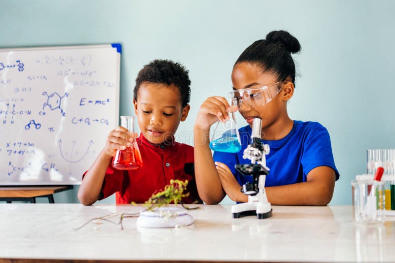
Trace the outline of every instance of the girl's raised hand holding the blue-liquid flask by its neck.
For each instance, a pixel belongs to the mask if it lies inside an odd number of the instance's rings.
[[[229,119],[227,111],[229,109],[229,103],[225,98],[220,96],[207,98],[201,104],[197,113],[195,128],[209,131],[213,123],[216,123],[218,120],[225,122],[226,119]]]

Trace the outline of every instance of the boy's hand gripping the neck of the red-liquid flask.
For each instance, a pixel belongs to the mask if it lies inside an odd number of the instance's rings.
[[[126,128],[119,126],[108,134],[103,151],[106,155],[113,157],[116,150],[126,149],[126,146],[130,145],[137,137],[137,132],[132,134]]]

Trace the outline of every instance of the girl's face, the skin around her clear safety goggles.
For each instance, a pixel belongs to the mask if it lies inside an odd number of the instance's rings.
[[[233,89],[247,89],[247,88],[259,88],[262,86],[271,86],[278,82],[276,75],[270,72],[262,72],[262,69],[257,64],[241,62],[237,63],[232,71],[232,83]],[[267,128],[274,124],[283,114],[286,113],[286,101],[292,97],[292,93],[289,94],[287,91],[281,91],[268,103],[251,107],[247,103],[242,103],[239,112],[252,127],[252,121],[255,117],[262,119],[262,129]],[[279,87],[283,87],[284,83],[279,83]],[[289,86],[287,84],[287,86]]]

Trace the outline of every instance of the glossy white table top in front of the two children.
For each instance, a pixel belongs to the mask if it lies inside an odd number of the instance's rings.
[[[0,259],[390,262],[395,222],[358,226],[351,205],[273,206],[273,216],[233,219],[231,205],[199,205],[179,229],[88,220],[139,206],[0,204]],[[118,217],[113,218],[114,221]]]

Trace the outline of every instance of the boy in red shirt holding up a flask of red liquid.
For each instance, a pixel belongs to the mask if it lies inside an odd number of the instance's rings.
[[[130,134],[123,127],[110,132],[104,149],[83,175],[78,191],[82,204],[91,205],[114,193],[117,204],[144,203],[171,179],[189,181],[185,203],[200,201],[193,172],[194,148],[174,141],[180,121],[185,121],[190,110],[190,85],[188,71],[179,63],[155,60],[140,70],[133,103],[141,134]],[[111,166],[115,151],[126,147],[124,138],[130,142],[136,138],[142,168],[117,170]]]

